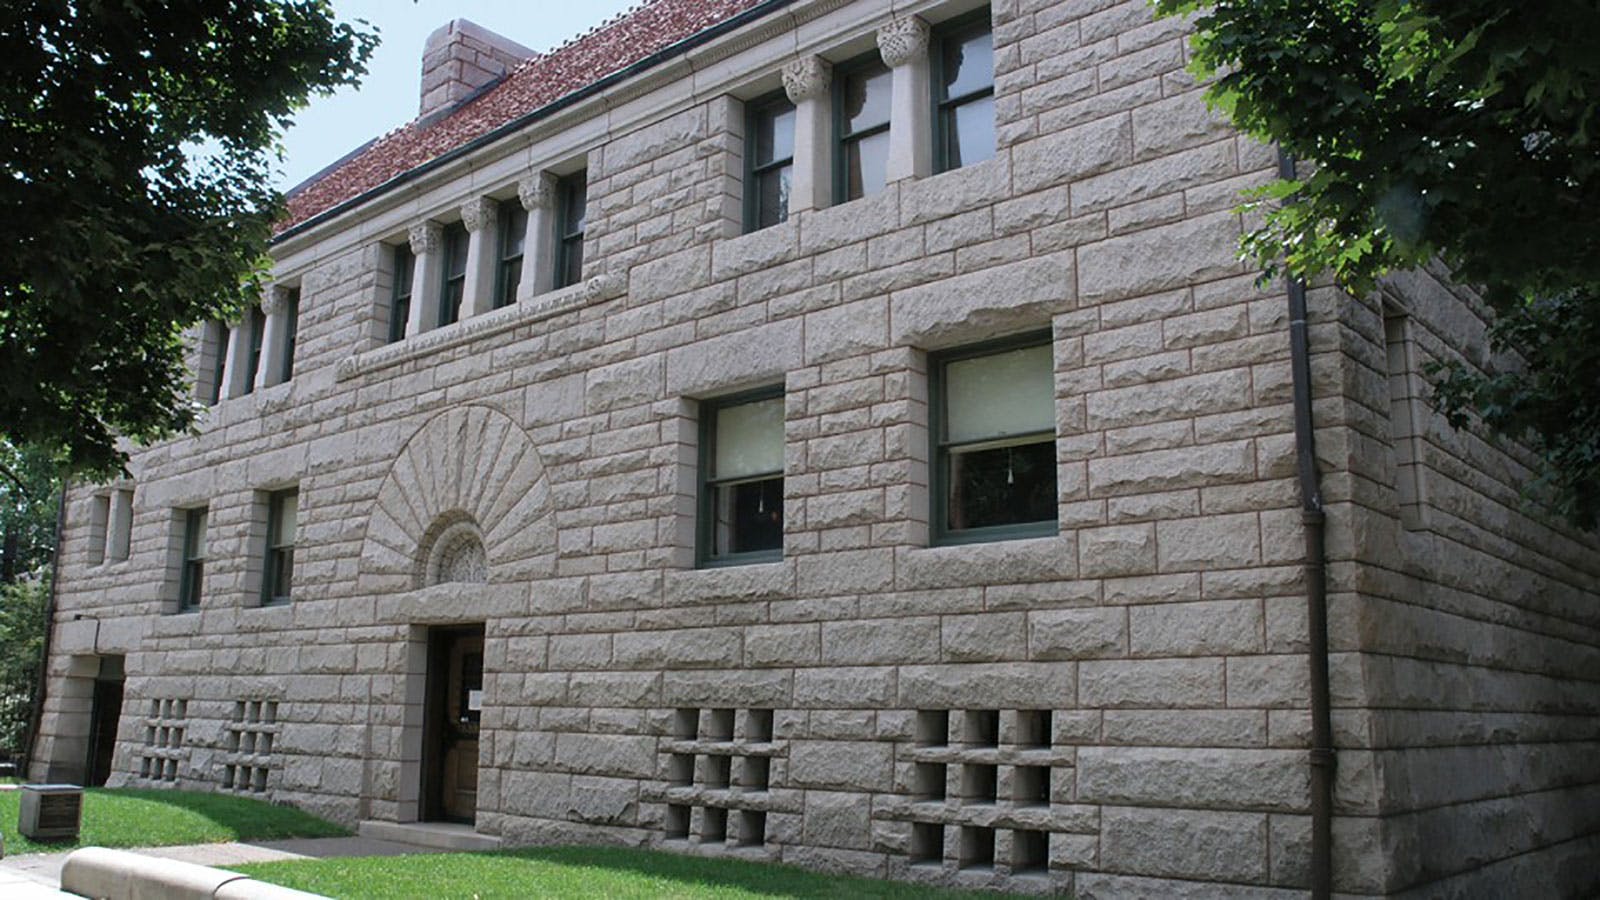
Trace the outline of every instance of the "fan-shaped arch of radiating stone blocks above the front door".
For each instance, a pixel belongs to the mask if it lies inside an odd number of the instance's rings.
[[[402,552],[413,567],[424,564],[430,530],[462,514],[483,535],[491,581],[496,562],[555,546],[550,487],[538,448],[515,420],[485,405],[443,410],[424,421],[395,455],[373,512],[362,543],[362,577],[394,573]]]

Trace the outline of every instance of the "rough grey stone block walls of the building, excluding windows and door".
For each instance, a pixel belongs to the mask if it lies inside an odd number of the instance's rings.
[[[1238,192],[1275,152],[1208,114],[1184,24],[1144,0],[752,10],[280,237],[291,376],[224,391],[131,479],[69,495],[35,777],[83,777],[115,655],[112,785],[416,822],[427,634],[482,623],[474,828],[507,846],[1304,895],[1288,315],[1237,253]],[[803,117],[813,59],[976,10],[992,159],[931,175],[902,127],[926,115],[902,104],[882,191],[811,202],[797,171],[787,219],[746,234],[749,101],[789,69]],[[546,290],[530,247],[517,303],[469,288],[459,322],[387,341],[414,229],[477,234],[482,197],[544,223],[550,178],[576,171],[581,280]],[[1424,271],[1309,304],[1334,889],[1594,892],[1600,541],[1520,500],[1520,450],[1427,408],[1427,360],[1488,362],[1469,290]],[[1040,331],[1053,528],[941,543],[930,359]],[[198,381],[219,341],[197,335]],[[698,565],[701,418],[752,388],[782,402],[781,554]],[[293,596],[262,604],[285,488]],[[101,504],[123,492],[118,559]],[[202,506],[203,591],[179,612]]]

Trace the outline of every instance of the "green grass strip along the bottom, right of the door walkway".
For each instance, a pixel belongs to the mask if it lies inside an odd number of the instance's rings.
[[[418,854],[288,860],[230,866],[251,878],[339,900],[494,897],[848,897],[883,900],[994,900],[995,894],[819,874],[794,866],[710,860],[621,847],[541,847],[485,854]]]

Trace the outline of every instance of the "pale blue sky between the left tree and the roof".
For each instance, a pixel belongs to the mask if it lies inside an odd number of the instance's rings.
[[[342,22],[366,19],[381,43],[360,88],[312,98],[285,133],[275,183],[288,191],[371,138],[416,119],[422,43],[451,19],[470,19],[523,46],[546,51],[627,10],[632,0],[333,0]],[[370,29],[366,29],[370,30]]]

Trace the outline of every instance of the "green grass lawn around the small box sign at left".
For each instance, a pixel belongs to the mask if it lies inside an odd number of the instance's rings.
[[[218,841],[334,838],[349,834],[331,822],[286,806],[190,791],[94,788],[83,796],[83,831],[77,841],[29,841],[16,833],[22,791],[0,791],[0,831],[6,854],[43,854],[74,847],[170,847]]]

